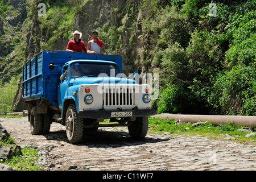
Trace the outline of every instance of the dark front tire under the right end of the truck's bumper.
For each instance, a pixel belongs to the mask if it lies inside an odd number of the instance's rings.
[[[133,139],[144,139],[147,135],[148,117],[136,118],[132,121],[131,126],[128,126],[129,134]]]

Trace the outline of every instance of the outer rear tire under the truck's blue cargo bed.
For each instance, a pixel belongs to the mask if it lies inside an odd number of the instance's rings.
[[[42,134],[43,114],[36,113],[36,106],[32,107],[30,113],[30,131],[32,135]]]

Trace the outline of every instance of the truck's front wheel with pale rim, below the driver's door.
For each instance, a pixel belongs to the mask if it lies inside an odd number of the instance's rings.
[[[76,105],[71,104],[68,106],[66,113],[66,134],[69,142],[79,143],[82,139],[82,131],[84,129],[83,119],[79,118],[76,111]]]

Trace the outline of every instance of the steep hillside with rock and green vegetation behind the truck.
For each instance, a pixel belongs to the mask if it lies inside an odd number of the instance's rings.
[[[46,5],[46,16],[38,16],[39,3]],[[72,31],[81,31],[87,42],[98,30],[106,53],[123,57],[126,75],[137,67],[159,73],[158,113],[256,115],[255,4],[3,0],[0,79],[20,80],[26,60],[43,49],[64,50]]]

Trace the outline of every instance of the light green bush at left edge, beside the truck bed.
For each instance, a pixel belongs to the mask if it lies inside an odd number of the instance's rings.
[[[15,77],[12,77],[10,82],[0,85],[0,115],[11,112],[18,81]]]

